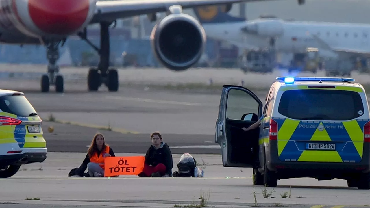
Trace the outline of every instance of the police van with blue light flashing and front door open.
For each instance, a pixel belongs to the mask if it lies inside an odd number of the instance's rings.
[[[277,77],[262,101],[224,85],[215,140],[224,167],[252,167],[253,183],[339,178],[370,189],[367,96],[352,78]],[[261,118],[260,128],[243,131]]]

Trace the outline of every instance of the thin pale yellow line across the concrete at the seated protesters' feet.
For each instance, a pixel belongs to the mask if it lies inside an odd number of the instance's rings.
[[[154,180],[154,179],[179,179],[179,180],[187,180],[188,177],[135,177],[135,178],[116,178],[116,177],[71,177],[71,178],[36,178],[36,177],[12,177],[12,178],[0,178],[0,181],[4,180],[105,180],[105,179],[112,179],[114,180],[129,180],[129,179],[144,179],[144,180]],[[194,178],[194,179],[251,179],[252,177],[209,177],[209,178]]]

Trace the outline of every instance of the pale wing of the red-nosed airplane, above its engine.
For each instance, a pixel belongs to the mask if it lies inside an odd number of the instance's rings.
[[[153,14],[168,11],[172,5],[180,5],[183,9],[211,6],[218,4],[232,4],[240,2],[268,1],[268,0],[108,0],[97,1],[94,17],[90,24],[100,21],[114,21],[117,19]]]

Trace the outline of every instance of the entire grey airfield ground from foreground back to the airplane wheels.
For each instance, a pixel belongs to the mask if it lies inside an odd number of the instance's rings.
[[[166,73],[168,77],[174,76],[168,70],[150,71],[158,71],[163,77]],[[227,70],[217,71],[229,73]],[[212,73],[204,73],[203,80],[206,82],[206,77]],[[232,73],[236,72],[229,74]],[[199,76],[196,79],[202,79],[199,71],[195,74]],[[150,77],[150,73],[141,74],[142,83],[151,80],[147,75]],[[245,77],[248,83],[249,80],[258,82],[260,76],[247,74]],[[43,118],[48,147],[46,161],[23,165],[13,177],[0,179],[1,208],[202,207],[199,197],[201,193],[206,197],[208,192],[206,204],[213,207],[257,204],[258,207],[342,208],[368,207],[370,204],[369,190],[348,188],[344,180],[297,178],[280,180],[278,187],[265,189],[252,185],[251,168],[223,167],[219,146],[214,142],[220,99],[217,93],[145,87],[121,87],[117,93],[107,93],[102,88],[99,92],[87,93],[85,82],[75,80],[66,81],[67,90],[63,94],[39,93],[39,81],[0,82],[0,88],[18,88],[26,93]],[[264,100],[265,94],[261,92],[258,96]],[[54,127],[53,132],[48,132],[50,126]],[[68,177],[72,168],[80,166],[97,131],[105,135],[118,156],[145,155],[150,145],[149,134],[160,131],[174,157],[172,171],[177,170],[181,154],[189,152],[198,161],[198,166],[204,168],[205,177]],[[271,196],[263,196],[264,191],[272,190]]]

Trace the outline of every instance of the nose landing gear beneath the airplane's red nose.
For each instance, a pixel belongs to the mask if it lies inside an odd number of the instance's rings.
[[[47,59],[49,64],[47,66],[47,74],[41,77],[41,92],[48,92],[50,85],[55,86],[55,92],[63,93],[64,91],[64,78],[59,73],[59,66],[57,60],[59,58],[58,45],[61,41],[51,41],[47,43]]]

